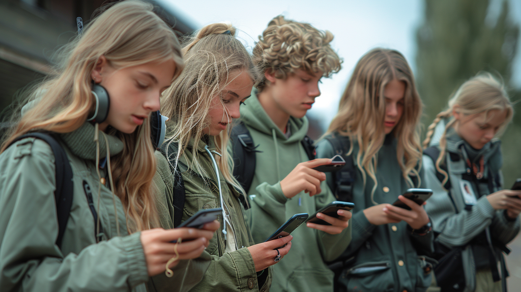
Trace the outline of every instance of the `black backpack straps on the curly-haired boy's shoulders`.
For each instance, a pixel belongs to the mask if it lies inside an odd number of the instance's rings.
[[[253,175],[255,174],[255,153],[262,151],[256,150],[258,145],[255,146],[250,131],[242,121],[233,126],[230,133],[230,141],[233,147],[233,176],[239,181],[244,192],[248,193],[252,186]],[[313,139],[306,135],[301,143],[309,160],[315,159],[316,153]],[[239,200],[245,209],[250,208],[244,196],[240,196]]]

